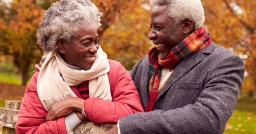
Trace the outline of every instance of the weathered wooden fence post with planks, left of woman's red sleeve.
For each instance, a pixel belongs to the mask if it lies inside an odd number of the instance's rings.
[[[20,100],[6,100],[5,107],[0,108],[0,125],[3,126],[2,134],[15,134],[20,104]]]

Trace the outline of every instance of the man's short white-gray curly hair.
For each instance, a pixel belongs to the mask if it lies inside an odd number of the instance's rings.
[[[176,24],[184,19],[192,19],[194,29],[198,29],[204,22],[204,11],[200,0],[151,0],[154,5],[167,5],[168,15]]]

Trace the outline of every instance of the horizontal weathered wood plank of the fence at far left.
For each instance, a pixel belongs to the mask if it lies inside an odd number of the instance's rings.
[[[19,110],[0,108],[0,126],[15,128]]]

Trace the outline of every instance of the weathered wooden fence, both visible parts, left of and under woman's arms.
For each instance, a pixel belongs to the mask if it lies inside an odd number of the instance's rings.
[[[20,103],[20,100],[7,100],[5,101],[5,107],[0,107],[0,126],[3,126],[2,134],[15,134]],[[112,125],[96,125],[92,122],[83,121],[73,132],[74,134],[104,134],[112,127]]]

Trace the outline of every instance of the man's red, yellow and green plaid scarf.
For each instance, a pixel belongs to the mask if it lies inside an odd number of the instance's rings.
[[[148,52],[148,70],[151,78],[148,85],[149,100],[146,106],[146,112],[152,111],[153,109],[155,100],[157,98],[162,68],[175,69],[183,58],[208,46],[210,42],[210,33],[204,27],[200,27],[198,30],[191,33],[183,41],[173,47],[170,53],[163,60],[159,58],[156,45],[151,47],[150,51]]]

